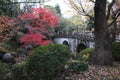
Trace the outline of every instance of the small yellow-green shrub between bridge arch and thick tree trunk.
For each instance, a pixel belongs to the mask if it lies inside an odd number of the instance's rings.
[[[79,61],[88,62],[94,52],[94,48],[86,48],[79,53]]]

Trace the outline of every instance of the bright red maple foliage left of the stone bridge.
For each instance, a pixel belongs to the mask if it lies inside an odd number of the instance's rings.
[[[51,29],[58,24],[58,17],[53,15],[49,9],[32,8],[29,13],[24,13],[18,18],[27,21],[25,27],[29,30],[29,33],[24,34],[20,42],[26,45],[46,45],[51,42],[45,34],[50,36]]]

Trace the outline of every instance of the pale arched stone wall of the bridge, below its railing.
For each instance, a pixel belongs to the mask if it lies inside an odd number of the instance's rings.
[[[55,38],[54,42],[57,44],[68,45],[72,52],[80,52],[81,50],[89,47],[88,41],[82,41],[72,38]]]

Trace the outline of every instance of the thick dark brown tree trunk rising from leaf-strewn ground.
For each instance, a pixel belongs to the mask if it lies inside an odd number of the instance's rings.
[[[92,62],[97,65],[112,65],[111,39],[106,20],[106,0],[96,0],[94,11],[95,53]]]

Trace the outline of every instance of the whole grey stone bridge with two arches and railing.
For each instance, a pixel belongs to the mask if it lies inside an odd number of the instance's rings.
[[[69,46],[72,52],[80,52],[85,48],[94,47],[94,34],[90,32],[64,32],[54,36],[54,42]]]

